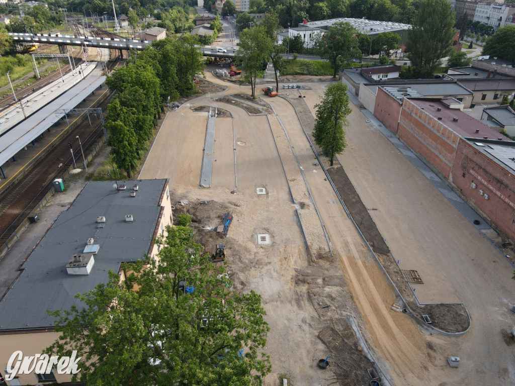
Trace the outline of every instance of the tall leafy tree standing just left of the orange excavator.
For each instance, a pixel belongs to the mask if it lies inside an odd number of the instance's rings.
[[[265,67],[272,51],[272,40],[264,26],[247,28],[239,35],[239,49],[236,58],[242,63],[244,79],[250,83],[255,98],[256,79],[265,75]]]

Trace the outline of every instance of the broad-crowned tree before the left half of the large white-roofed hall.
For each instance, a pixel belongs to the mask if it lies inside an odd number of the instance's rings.
[[[329,59],[331,62],[333,78],[336,78],[342,62],[361,56],[356,34],[356,30],[350,23],[339,22],[316,38],[315,47],[322,58]]]

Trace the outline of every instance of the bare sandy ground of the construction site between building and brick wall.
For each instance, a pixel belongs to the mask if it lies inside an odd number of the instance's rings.
[[[210,75],[208,79],[223,83]],[[246,87],[228,86],[222,94],[245,90],[250,94]],[[313,111],[327,84],[310,86],[313,90],[305,92],[305,100]],[[168,113],[141,178],[170,178],[172,197],[191,200],[191,210],[195,210],[195,200],[209,199],[214,212],[220,212],[223,203],[234,214],[236,221],[224,243],[236,286],[263,296],[271,329],[267,352],[273,372],[266,384],[277,384],[279,374],[287,374],[295,385],[364,384],[364,378],[348,383],[351,377],[345,372],[349,369],[331,367],[334,376],[329,376],[316,368],[316,360],[325,357],[329,349],[317,336],[323,328],[341,327],[341,318],[348,313],[355,315],[369,346],[379,354],[376,359],[397,385],[509,384],[515,370],[513,347],[507,346],[499,331],[515,324],[507,311],[514,298],[511,270],[422,174],[365,123],[363,114],[354,108],[349,117],[349,148],[339,160],[366,207],[377,209],[371,212],[372,218],[394,256],[401,259],[401,266],[406,261],[406,269],[418,269],[424,282],[427,278],[427,284],[417,288],[421,301],[466,303],[473,328],[464,337],[425,335],[407,315],[390,310],[395,301],[393,291],[329,182],[324,181],[322,170],[312,165],[314,155],[293,108],[281,98],[267,99],[290,137],[333,245],[334,261],[321,259],[314,267],[310,264],[267,117],[250,117],[242,108],[213,100],[222,94],[194,99]],[[231,118],[217,118],[211,189],[198,187],[207,113],[191,108],[202,105],[229,110],[234,117],[234,139],[244,143],[236,145],[234,165]],[[282,156],[286,150],[280,151]],[[287,158],[284,156],[283,162],[293,162]],[[232,195],[235,166],[238,187]],[[256,195],[256,187],[266,187],[267,195]],[[309,197],[306,203],[310,203]],[[217,224],[216,216],[198,220],[209,222],[200,226]],[[269,233],[272,244],[258,246],[258,233]],[[214,244],[211,235],[205,239]],[[214,245],[206,247],[210,250]],[[459,258],[451,261],[448,256]],[[479,257],[486,256],[479,262]],[[322,271],[315,273],[315,268]],[[330,275],[337,279],[324,282]],[[467,278],[472,280],[467,282]],[[317,304],[331,307],[322,309]],[[341,347],[343,350],[344,345]],[[361,357],[355,343],[346,346],[345,353]],[[462,358],[459,369],[447,365],[448,355]]]

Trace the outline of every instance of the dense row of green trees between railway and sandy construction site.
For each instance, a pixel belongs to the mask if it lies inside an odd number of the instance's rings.
[[[108,107],[108,143],[114,162],[129,178],[146,150],[161,106],[195,92],[195,74],[203,72],[198,44],[190,34],[155,41],[107,78],[109,89],[117,92]]]

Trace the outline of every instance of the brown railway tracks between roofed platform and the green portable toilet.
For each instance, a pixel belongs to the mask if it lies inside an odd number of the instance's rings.
[[[103,111],[107,110],[109,99],[114,93],[100,103]],[[0,243],[6,242],[13,232],[22,224],[25,218],[39,201],[52,188],[53,181],[60,178],[64,170],[73,164],[68,143],[73,144],[75,160],[79,162],[82,153],[76,135],[82,140],[82,149],[87,154],[98,139],[104,135],[99,119],[92,118],[92,125],[84,116],[80,125],[72,130],[62,141],[52,149],[41,162],[38,162],[19,182],[7,189],[0,197]],[[62,164],[62,165],[61,165]],[[61,166],[60,166],[61,165]]]

